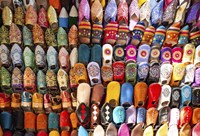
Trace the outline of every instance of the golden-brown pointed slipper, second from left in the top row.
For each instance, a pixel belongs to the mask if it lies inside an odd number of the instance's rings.
[[[25,23],[25,13],[23,7],[19,6],[15,10],[14,23],[22,27]]]

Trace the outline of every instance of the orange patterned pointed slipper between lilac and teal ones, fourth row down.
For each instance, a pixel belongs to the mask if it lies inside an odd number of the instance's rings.
[[[24,90],[30,93],[36,92],[36,77],[35,73],[30,67],[27,67],[23,76]]]

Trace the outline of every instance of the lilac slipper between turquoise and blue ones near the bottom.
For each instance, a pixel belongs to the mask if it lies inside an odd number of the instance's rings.
[[[128,107],[126,110],[126,120],[125,123],[130,127],[133,128],[136,124],[136,108],[132,105]]]

